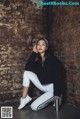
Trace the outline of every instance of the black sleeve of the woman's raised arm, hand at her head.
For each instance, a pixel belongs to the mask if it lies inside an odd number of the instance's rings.
[[[31,56],[29,57],[27,63],[26,63],[25,70],[31,70],[32,69],[32,66],[35,62],[36,57],[37,57],[37,53],[33,51]]]

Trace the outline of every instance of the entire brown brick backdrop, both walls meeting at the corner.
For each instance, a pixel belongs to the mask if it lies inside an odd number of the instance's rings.
[[[25,63],[43,33],[64,64],[67,100],[80,107],[79,11],[76,6],[41,8],[32,0],[0,1],[0,101],[21,96]]]

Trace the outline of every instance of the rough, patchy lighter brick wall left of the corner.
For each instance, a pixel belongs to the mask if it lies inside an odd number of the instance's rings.
[[[0,1],[0,101],[21,95],[32,44],[41,33],[46,34],[44,11],[30,0]]]

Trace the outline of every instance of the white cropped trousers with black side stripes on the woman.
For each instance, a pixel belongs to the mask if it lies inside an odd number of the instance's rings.
[[[25,71],[23,74],[23,86],[29,87],[30,81],[44,94],[37,98],[32,104],[32,110],[39,110],[44,108],[47,104],[53,101],[53,84],[42,85],[37,75],[31,71]]]

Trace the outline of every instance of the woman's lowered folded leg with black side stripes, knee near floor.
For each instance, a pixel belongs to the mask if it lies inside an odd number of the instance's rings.
[[[40,110],[46,107],[50,102],[53,101],[53,98],[54,98],[53,84],[49,84],[44,87],[47,89],[47,92],[45,92],[43,95],[41,95],[31,104],[32,110],[35,110],[35,111]]]

